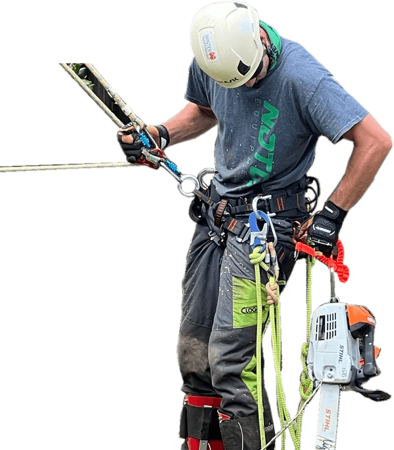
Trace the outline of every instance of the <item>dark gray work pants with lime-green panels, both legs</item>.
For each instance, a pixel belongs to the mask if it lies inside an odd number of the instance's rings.
[[[302,221],[305,214],[306,210],[304,214],[298,211],[298,217],[293,215],[290,220],[286,217],[286,221],[281,221],[284,226],[275,226],[280,235],[276,251],[281,269],[279,280],[283,282],[288,281],[296,263],[290,224],[293,220]],[[219,412],[230,419],[220,424],[225,450],[258,450],[261,446],[256,402],[257,303],[254,266],[248,256],[251,248],[249,242],[238,242],[237,236],[230,232],[219,245],[209,235],[210,230],[212,226],[205,221],[196,225],[182,282],[178,340],[182,392],[222,398]],[[263,270],[261,280],[263,285],[268,282]],[[281,291],[283,288],[284,285]],[[264,288],[262,294],[264,301],[264,296],[267,299]],[[264,382],[263,403],[268,442],[275,431]],[[243,441],[239,444],[240,430]]]

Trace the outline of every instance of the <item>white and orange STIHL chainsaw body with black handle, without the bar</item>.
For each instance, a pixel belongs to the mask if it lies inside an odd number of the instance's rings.
[[[315,381],[340,385],[373,401],[390,394],[364,389],[362,384],[381,374],[376,365],[380,348],[374,346],[376,321],[363,306],[344,303],[321,305],[313,314],[307,366]]]

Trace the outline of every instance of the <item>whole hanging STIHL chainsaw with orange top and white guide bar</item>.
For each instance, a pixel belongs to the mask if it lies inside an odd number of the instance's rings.
[[[335,450],[342,392],[354,391],[374,402],[391,394],[363,387],[382,372],[376,365],[381,349],[374,346],[376,320],[365,306],[340,303],[331,270],[332,297],[313,314],[306,360],[315,387],[321,384],[315,450]]]

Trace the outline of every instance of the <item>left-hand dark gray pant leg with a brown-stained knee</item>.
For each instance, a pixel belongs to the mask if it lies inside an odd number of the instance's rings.
[[[182,281],[182,320],[178,338],[178,365],[184,394],[213,395],[208,342],[216,311],[223,248],[196,225],[186,257]]]

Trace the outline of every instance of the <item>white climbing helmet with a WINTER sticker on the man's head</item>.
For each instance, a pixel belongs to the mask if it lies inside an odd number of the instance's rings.
[[[239,87],[256,75],[263,58],[259,14],[243,1],[204,6],[191,23],[190,45],[210,78],[225,87]]]

